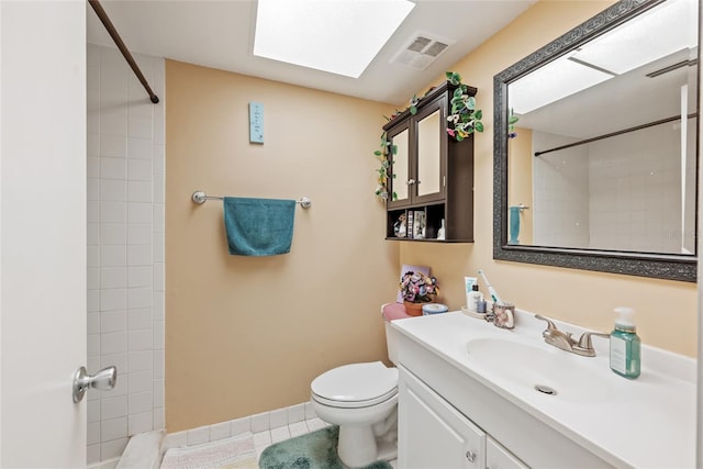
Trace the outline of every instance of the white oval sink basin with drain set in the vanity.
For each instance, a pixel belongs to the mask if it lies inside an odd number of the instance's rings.
[[[469,359],[491,376],[551,399],[592,402],[609,395],[606,376],[581,357],[549,345],[503,338],[467,343]]]

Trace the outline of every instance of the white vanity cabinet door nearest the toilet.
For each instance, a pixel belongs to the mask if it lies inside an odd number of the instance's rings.
[[[486,467],[486,434],[426,384],[399,367],[398,466]]]

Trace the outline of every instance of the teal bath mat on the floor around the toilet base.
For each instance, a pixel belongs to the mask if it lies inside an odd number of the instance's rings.
[[[260,469],[346,469],[337,457],[338,426],[328,426],[306,435],[276,443],[264,449]],[[391,469],[376,461],[364,469]]]

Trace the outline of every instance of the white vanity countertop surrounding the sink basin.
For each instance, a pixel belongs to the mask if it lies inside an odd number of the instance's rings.
[[[596,357],[582,357],[544,342],[546,323],[516,311],[514,330],[500,330],[461,312],[393,321],[393,328],[518,405],[580,446],[617,467],[694,468],[695,360],[643,345],[641,375],[628,380],[610,369],[609,339],[593,337]],[[579,337],[584,330],[555,321]],[[571,370],[598,378],[578,399],[542,394],[467,353],[476,338],[507,338],[563,358]],[[518,358],[516,358],[518,361]],[[504,369],[504,367],[501,367]],[[516,365],[517,368],[517,365]],[[525,366],[521,366],[524,369]],[[516,369],[516,372],[518,370]],[[556,377],[555,388],[559,388]],[[565,378],[568,379],[568,378]],[[432,383],[428,383],[432,386]],[[548,383],[549,384],[549,383]]]

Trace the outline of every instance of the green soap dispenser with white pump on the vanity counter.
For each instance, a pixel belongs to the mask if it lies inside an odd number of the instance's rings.
[[[639,337],[636,334],[632,308],[615,308],[618,317],[611,333],[611,369],[620,376],[635,379],[639,376]]]

